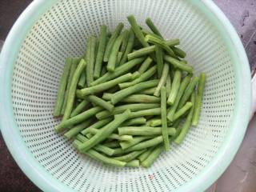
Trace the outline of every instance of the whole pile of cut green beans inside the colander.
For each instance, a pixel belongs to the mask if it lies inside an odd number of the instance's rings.
[[[180,40],[166,40],[150,18],[143,29],[103,25],[82,57],[66,58],[54,117],[57,133],[81,154],[111,166],[149,167],[170,143],[198,126],[206,74],[194,76]]]

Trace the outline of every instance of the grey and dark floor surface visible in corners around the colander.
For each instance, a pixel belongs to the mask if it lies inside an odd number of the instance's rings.
[[[210,0],[209,0],[210,1]],[[0,47],[14,21],[31,0],[0,1]],[[222,9],[246,48],[252,74],[256,69],[256,0],[214,0]],[[1,50],[1,49],[0,49]],[[207,191],[256,191],[256,117],[250,122],[246,137],[218,182]],[[18,168],[0,135],[0,191],[40,191]]]

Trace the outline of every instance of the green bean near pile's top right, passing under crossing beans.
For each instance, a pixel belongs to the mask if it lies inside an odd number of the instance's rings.
[[[170,39],[166,41],[168,46],[174,46],[179,44],[179,39]],[[127,54],[128,61],[134,58],[139,58],[148,54],[152,54],[155,51],[155,46],[148,46],[139,50],[135,50],[134,52]]]

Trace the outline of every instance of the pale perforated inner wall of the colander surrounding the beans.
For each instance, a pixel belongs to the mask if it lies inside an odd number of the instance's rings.
[[[67,56],[85,53],[86,38],[106,24],[128,27],[134,14],[145,26],[150,17],[165,38],[180,38],[195,74],[207,74],[199,125],[180,146],[171,146],[149,169],[116,168],[78,154],[54,132],[54,102]],[[145,26],[146,27],[146,26]],[[14,65],[12,101],[26,146],[44,169],[78,191],[171,191],[190,182],[218,153],[234,113],[234,66],[218,30],[181,0],[66,0],[52,6],[34,24]]]

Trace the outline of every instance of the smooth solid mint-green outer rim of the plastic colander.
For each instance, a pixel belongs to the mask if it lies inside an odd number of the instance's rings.
[[[28,178],[43,191],[74,191],[70,186],[54,178],[46,169],[34,158],[26,143],[22,140],[18,126],[14,119],[14,111],[11,98],[11,81],[14,70],[14,63],[18,56],[18,51],[22,46],[26,34],[30,31],[34,22],[42,16],[50,6],[59,0],[45,1],[34,0],[30,6],[23,11],[6,38],[0,54],[0,81],[2,90],[0,91],[0,129],[15,162],[22,169]],[[192,0],[191,4],[214,24],[218,32],[222,34],[223,41],[228,46],[232,62],[234,62],[235,75],[235,106],[234,115],[230,123],[229,134],[218,150],[218,153],[196,177],[190,182],[186,182],[177,191],[203,191],[206,190],[218,177],[226,170],[246,132],[246,126],[250,120],[251,107],[251,84],[250,68],[246,52],[242,46],[238,34],[230,21],[212,1]],[[17,38],[19,37],[19,38]],[[239,78],[240,77],[240,78]],[[243,117],[243,118],[241,118]]]

